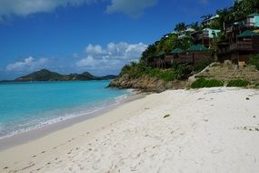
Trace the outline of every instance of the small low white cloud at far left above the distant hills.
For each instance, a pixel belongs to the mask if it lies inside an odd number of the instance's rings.
[[[28,71],[28,70],[35,70],[37,68],[44,67],[48,62],[47,58],[39,58],[35,59],[34,57],[30,56],[25,58],[24,61],[15,62],[14,64],[10,64],[5,66],[6,71]]]

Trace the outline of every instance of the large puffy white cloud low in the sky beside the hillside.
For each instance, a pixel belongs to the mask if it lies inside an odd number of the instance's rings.
[[[102,46],[88,45],[85,48],[86,57],[75,63],[75,66],[86,69],[120,69],[125,64],[137,61],[146,49],[146,45],[109,43],[105,48]]]

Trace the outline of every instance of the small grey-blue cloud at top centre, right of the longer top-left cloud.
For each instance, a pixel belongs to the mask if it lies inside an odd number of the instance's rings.
[[[112,0],[107,6],[107,13],[125,13],[134,18],[143,14],[144,9],[155,5],[157,0]]]

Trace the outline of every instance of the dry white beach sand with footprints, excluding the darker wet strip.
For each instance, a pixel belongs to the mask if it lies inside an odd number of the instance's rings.
[[[259,90],[168,90],[5,149],[0,172],[255,173],[258,146]]]

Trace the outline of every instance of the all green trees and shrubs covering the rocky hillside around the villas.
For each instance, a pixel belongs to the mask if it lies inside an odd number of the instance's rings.
[[[120,76],[125,74],[133,78],[140,76],[152,76],[163,79],[164,81],[172,81],[186,79],[188,76],[203,70],[205,66],[208,66],[211,63],[210,60],[206,60],[197,65],[179,64],[174,62],[171,63],[171,66],[166,69],[145,66],[145,62],[148,62],[149,60],[152,62],[155,56],[169,54],[175,48],[186,50],[188,47],[193,46],[194,41],[192,37],[189,36],[186,28],[192,28],[195,31],[201,31],[205,27],[210,27],[212,29],[220,29],[224,31],[227,24],[231,24],[236,20],[243,19],[246,15],[258,11],[258,2],[258,0],[243,0],[240,2],[236,1],[232,7],[217,10],[216,15],[218,15],[218,18],[216,18],[210,25],[202,25],[198,22],[194,22],[189,25],[181,22],[175,25],[174,32],[161,37],[159,41],[156,41],[154,44],[151,44],[144,50],[139,63],[132,63],[130,65],[124,66]],[[202,19],[209,19],[212,16],[213,15],[203,15]],[[181,32],[184,32],[185,36],[179,39],[177,34]],[[222,32],[219,34],[219,36],[214,38],[214,43],[210,47],[212,56],[215,53],[217,43],[223,40],[224,36],[225,33]],[[251,58],[250,63],[259,69],[259,56]],[[204,79],[197,81],[197,84],[198,83],[205,84],[205,86],[210,86],[211,84],[213,84],[212,86],[222,85],[222,83],[219,81],[204,81]],[[195,85],[196,84],[194,84],[194,86]]]

